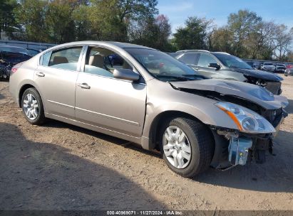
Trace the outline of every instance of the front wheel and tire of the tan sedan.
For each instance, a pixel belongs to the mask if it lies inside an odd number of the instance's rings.
[[[185,141],[183,142],[178,139],[177,141],[180,144],[174,142],[173,140],[168,141],[166,137],[168,137],[170,131],[173,134],[172,137],[176,140],[176,137],[178,137],[176,136],[178,128],[185,134]],[[178,134],[180,134],[180,131]],[[182,133],[180,135],[183,136]],[[206,171],[207,168],[209,168],[213,153],[215,151],[215,141],[212,136],[212,132],[207,128],[207,126],[205,126],[205,124],[181,117],[170,119],[161,126],[160,140],[160,151],[163,153],[163,159],[165,163],[167,163],[168,167],[175,173],[190,178]],[[175,147],[171,148],[173,144]],[[176,145],[179,145],[182,148]],[[191,148],[189,150],[189,154],[188,151],[186,151],[186,146]],[[175,159],[173,156],[174,151],[177,151],[175,155],[178,155],[179,158],[183,158],[183,160],[178,158]],[[183,151],[185,151],[185,153],[183,153]],[[188,157],[186,157],[188,155],[190,156],[189,161],[187,159]],[[177,161],[177,166],[175,161]]]

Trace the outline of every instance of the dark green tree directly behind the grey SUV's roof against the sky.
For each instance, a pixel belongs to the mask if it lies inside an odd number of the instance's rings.
[[[185,27],[180,27],[174,33],[174,42],[179,50],[206,49],[212,21],[205,18],[189,17]]]

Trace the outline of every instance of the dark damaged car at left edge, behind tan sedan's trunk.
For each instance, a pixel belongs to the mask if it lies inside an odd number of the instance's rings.
[[[30,58],[31,55],[25,48],[0,45],[0,79],[8,79],[10,70],[14,65]]]

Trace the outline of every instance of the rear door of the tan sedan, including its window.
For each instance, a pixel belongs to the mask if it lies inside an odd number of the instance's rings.
[[[41,93],[45,112],[74,119],[75,91],[83,46],[45,53],[34,81]]]

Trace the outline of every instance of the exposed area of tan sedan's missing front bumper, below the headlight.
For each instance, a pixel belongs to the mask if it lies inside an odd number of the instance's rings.
[[[283,110],[282,114],[274,119],[272,123],[276,130],[274,134],[243,134],[239,131],[212,127],[215,137],[215,154],[211,166],[225,170],[237,165],[243,166],[247,161],[264,163],[265,152],[272,153],[272,139],[277,136],[287,115],[287,112]]]

